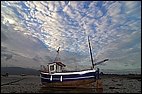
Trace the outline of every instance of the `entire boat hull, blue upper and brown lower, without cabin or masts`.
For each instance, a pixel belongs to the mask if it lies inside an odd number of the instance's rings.
[[[46,87],[82,87],[95,82],[99,78],[99,71],[56,75],[41,73],[40,76],[42,84]]]

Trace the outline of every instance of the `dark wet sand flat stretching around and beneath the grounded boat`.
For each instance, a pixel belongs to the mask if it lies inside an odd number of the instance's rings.
[[[1,77],[1,93],[141,93],[141,75],[103,75],[101,78],[102,89],[47,89],[42,88],[39,76],[9,75]]]

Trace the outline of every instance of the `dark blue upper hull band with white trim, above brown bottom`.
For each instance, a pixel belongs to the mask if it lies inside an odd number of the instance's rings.
[[[40,73],[41,82],[42,83],[54,83],[54,82],[67,82],[67,81],[78,81],[78,80],[88,80],[88,79],[98,79],[99,78],[99,70],[89,71],[86,73],[80,74],[77,73],[59,73],[59,74],[48,74],[48,73]]]

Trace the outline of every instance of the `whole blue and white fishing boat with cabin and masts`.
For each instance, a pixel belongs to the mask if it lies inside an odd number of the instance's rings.
[[[42,85],[46,87],[80,87],[99,79],[99,68],[95,68],[94,66],[103,63],[108,59],[94,64],[89,37],[88,42],[92,61],[91,69],[73,72],[64,71],[66,65],[63,64],[58,58],[59,47],[54,62],[48,63],[46,67],[41,66],[42,70],[40,71],[40,78]]]

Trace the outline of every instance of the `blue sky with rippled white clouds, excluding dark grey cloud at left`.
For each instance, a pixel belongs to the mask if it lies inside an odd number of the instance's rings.
[[[101,68],[141,69],[141,1],[1,1],[1,18],[50,50],[90,59],[89,36]]]

